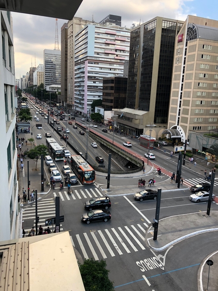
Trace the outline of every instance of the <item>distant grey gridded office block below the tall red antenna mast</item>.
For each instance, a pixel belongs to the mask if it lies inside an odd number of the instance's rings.
[[[44,88],[61,85],[61,50],[44,49]]]

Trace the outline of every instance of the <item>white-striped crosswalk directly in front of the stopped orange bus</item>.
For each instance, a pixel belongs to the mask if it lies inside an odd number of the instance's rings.
[[[59,196],[62,201],[69,201],[69,200],[76,200],[76,199],[82,199],[82,198],[94,198],[94,197],[103,197],[104,195],[101,194],[101,192],[97,188],[90,188],[90,189],[77,189],[73,190],[73,192],[70,192],[68,194],[67,191],[59,191],[53,192],[54,197]]]

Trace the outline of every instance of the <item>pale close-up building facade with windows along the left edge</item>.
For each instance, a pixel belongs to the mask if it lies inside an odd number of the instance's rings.
[[[18,215],[15,62],[11,13],[0,11],[1,194],[0,241],[15,239]]]

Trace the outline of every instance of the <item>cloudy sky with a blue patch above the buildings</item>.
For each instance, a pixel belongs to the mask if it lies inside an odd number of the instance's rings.
[[[90,4],[92,3],[92,5]],[[109,14],[122,16],[122,26],[143,23],[156,16],[185,20],[187,15],[217,19],[217,0],[83,0],[76,16],[95,22]],[[12,13],[16,78],[26,75],[31,65],[43,64],[43,50],[54,49],[55,18]],[[61,27],[58,19],[59,48]]]

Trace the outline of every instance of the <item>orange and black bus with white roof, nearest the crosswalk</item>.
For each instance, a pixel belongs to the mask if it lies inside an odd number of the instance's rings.
[[[81,156],[71,156],[70,164],[83,185],[94,184],[95,171]]]

